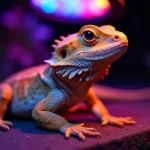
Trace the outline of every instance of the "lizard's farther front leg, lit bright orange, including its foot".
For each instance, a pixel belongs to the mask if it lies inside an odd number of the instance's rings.
[[[123,127],[125,124],[135,125],[135,121],[131,117],[114,117],[111,116],[104,104],[91,88],[88,92],[88,97],[85,102],[91,107],[95,116],[102,121],[102,126],[107,124]]]

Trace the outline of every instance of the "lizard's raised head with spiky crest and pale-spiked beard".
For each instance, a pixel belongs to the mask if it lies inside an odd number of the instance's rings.
[[[103,78],[128,46],[126,35],[110,25],[85,25],[78,33],[60,38],[52,45],[53,57],[46,62],[60,78],[76,82]]]

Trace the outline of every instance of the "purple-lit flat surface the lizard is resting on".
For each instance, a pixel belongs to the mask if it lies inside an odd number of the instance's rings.
[[[37,127],[32,120],[13,119],[14,128],[10,132],[0,131],[1,150],[81,150],[81,149],[148,149],[150,148],[150,102],[111,103],[106,104],[115,116],[132,116],[136,126],[117,128],[112,126],[101,127],[91,113],[67,115],[70,121],[85,122],[86,126],[95,127],[102,133],[102,138],[88,137],[85,142],[71,137],[66,140],[63,135],[48,132]]]

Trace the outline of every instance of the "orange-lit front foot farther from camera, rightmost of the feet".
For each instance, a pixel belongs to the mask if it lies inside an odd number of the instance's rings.
[[[136,122],[131,117],[114,117],[111,115],[105,115],[102,118],[102,126],[107,124],[123,127],[124,125],[135,125]]]

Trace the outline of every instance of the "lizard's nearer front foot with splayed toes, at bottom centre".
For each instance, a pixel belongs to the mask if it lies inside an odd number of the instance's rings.
[[[65,137],[68,139],[71,135],[78,136],[81,140],[85,140],[86,136],[96,136],[101,137],[101,134],[96,131],[94,128],[83,127],[84,124],[71,124],[68,127],[62,127],[60,132],[65,134]]]

